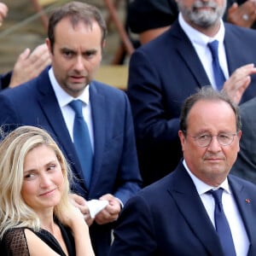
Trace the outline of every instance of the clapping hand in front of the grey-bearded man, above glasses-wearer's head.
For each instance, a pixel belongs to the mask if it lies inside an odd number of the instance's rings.
[[[231,74],[230,79],[227,79],[224,83],[223,90],[230,96],[233,102],[239,104],[241,96],[251,83],[251,77],[253,73],[256,73],[256,67],[253,64],[247,64],[239,67],[234,73]]]

